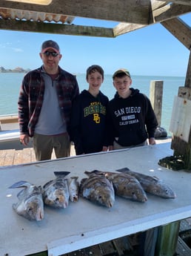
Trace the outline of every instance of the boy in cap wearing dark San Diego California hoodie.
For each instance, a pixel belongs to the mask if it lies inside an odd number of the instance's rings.
[[[155,144],[158,126],[150,99],[138,89],[130,88],[132,79],[127,69],[113,74],[116,93],[108,105],[110,150]]]

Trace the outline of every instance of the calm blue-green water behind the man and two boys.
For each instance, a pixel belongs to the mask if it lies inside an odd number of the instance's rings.
[[[0,115],[16,114],[19,88],[24,73],[0,73]],[[87,89],[85,74],[77,74],[80,91]],[[152,80],[164,81],[161,127],[169,133],[170,118],[174,96],[178,95],[178,87],[184,86],[185,78],[178,76],[132,76],[133,88],[138,88],[142,93],[150,96],[150,82]],[[102,93],[109,99],[113,98],[115,89],[111,75],[105,75],[104,83],[101,85]]]

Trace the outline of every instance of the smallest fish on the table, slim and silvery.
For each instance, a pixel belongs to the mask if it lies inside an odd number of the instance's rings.
[[[68,179],[68,188],[69,188],[70,201],[77,202],[78,194],[79,194],[78,177],[70,177]]]

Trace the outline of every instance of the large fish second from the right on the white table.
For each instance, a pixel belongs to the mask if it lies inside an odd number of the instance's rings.
[[[119,197],[124,197],[142,203],[147,201],[147,194],[145,193],[141,184],[130,174],[98,170],[91,171],[90,173],[104,175],[104,177],[107,177],[107,179],[113,183],[115,194]]]

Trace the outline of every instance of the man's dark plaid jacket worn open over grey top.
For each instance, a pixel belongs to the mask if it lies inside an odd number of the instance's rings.
[[[41,75],[42,66],[24,76],[19,93],[19,128],[21,134],[33,137],[38,116],[44,97],[44,79]],[[73,99],[78,95],[79,88],[76,76],[59,67],[58,83],[56,85],[61,115],[67,124],[70,134],[70,115]]]

